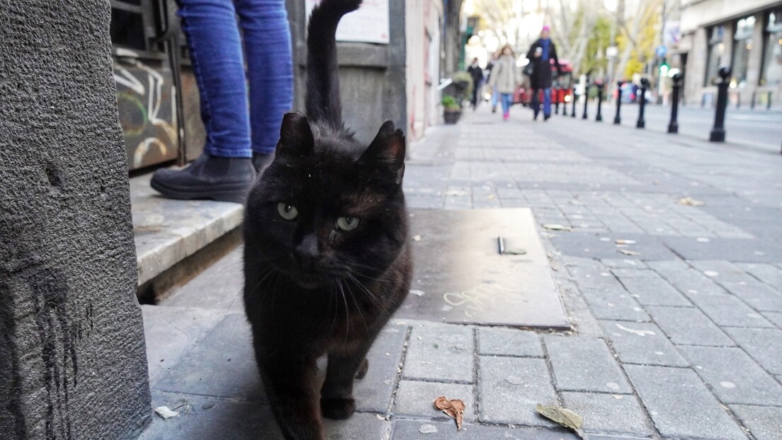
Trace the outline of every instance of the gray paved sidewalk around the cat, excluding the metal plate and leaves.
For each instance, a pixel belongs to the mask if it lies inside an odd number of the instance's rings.
[[[330,438],[576,438],[536,403],[576,411],[589,438],[782,438],[778,148],[608,114],[533,123],[515,107],[503,123],[484,105],[411,145],[411,208],[533,209],[572,331],[393,320]],[[153,406],[181,414],[142,438],[278,438],[240,258],[144,306]],[[439,395],[465,401],[465,431],[432,408]]]

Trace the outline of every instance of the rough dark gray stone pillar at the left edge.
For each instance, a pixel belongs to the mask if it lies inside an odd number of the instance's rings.
[[[135,438],[149,383],[108,0],[0,2],[0,437]]]

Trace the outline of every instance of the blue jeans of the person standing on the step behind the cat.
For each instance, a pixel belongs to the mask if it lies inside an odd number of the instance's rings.
[[[179,16],[201,98],[204,152],[221,157],[274,152],[282,115],[293,104],[285,0],[179,0]]]

